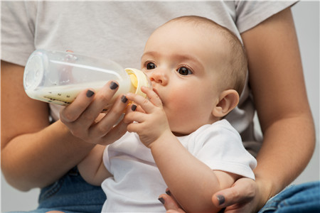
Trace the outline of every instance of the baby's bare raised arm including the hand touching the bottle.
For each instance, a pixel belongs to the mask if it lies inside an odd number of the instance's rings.
[[[212,195],[232,186],[238,175],[213,171],[189,153],[171,132],[159,97],[151,89],[142,88],[142,91],[150,101],[134,94],[126,95],[142,108],[124,117],[128,131],[137,132],[142,143],[151,149],[166,185],[186,212],[218,212],[220,209],[211,201]]]

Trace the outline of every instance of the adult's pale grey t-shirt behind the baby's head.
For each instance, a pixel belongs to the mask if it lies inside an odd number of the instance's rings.
[[[206,16],[240,38],[240,33],[292,4],[292,1],[2,1],[1,60],[24,66],[36,49],[73,50],[114,60],[123,67],[139,68],[147,38],[171,18]],[[57,120],[60,108],[50,104],[50,109]],[[253,155],[262,142],[254,130],[254,114],[252,94],[246,84],[238,107],[226,119],[238,130]]]

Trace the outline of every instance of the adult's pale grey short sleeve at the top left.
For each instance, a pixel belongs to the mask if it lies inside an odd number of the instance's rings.
[[[1,60],[26,65],[34,48],[36,1],[1,3]]]

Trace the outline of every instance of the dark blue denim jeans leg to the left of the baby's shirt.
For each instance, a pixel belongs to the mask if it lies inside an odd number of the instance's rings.
[[[101,212],[106,199],[105,192],[100,186],[88,184],[78,169],[73,168],[63,178],[41,190],[39,206],[30,212],[44,213],[52,210],[65,213]]]

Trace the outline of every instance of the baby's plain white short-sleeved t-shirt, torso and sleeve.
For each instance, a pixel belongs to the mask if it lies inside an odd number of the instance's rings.
[[[257,161],[245,150],[238,131],[227,120],[201,126],[178,140],[212,170],[255,179],[252,170]],[[113,177],[102,182],[107,195],[102,212],[165,212],[158,197],[165,192],[166,183],[150,149],[139,141],[137,133],[126,133],[107,146],[103,161]]]

